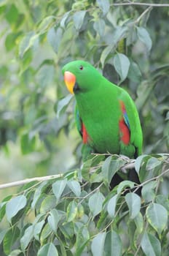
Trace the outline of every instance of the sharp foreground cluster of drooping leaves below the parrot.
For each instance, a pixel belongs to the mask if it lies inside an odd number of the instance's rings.
[[[125,180],[110,191],[111,178],[132,163],[93,155],[63,178],[29,183],[4,198],[4,255],[168,255],[168,154],[138,157],[141,184]]]

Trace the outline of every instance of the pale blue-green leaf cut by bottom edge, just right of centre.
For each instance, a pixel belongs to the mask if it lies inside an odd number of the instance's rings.
[[[91,250],[93,256],[103,256],[104,252],[104,243],[106,239],[106,232],[98,233],[95,238],[93,238],[91,244]]]

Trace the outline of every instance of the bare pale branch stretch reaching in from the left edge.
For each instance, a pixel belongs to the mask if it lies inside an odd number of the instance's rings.
[[[56,175],[50,175],[50,176],[42,176],[42,177],[34,177],[34,178],[25,178],[22,181],[13,181],[6,184],[1,184],[0,189],[7,189],[9,187],[17,187],[17,186],[23,186],[25,184],[30,183],[31,181],[47,181],[52,178],[61,178],[63,177],[63,174],[56,174]]]

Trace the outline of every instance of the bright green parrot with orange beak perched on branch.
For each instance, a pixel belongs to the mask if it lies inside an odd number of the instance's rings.
[[[127,91],[86,61],[69,62],[63,75],[76,98],[76,126],[89,153],[138,157],[143,136],[138,111]]]

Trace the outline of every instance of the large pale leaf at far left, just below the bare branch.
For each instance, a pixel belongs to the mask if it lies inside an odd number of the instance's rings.
[[[18,211],[23,209],[26,205],[26,197],[24,195],[18,195],[17,197],[13,197],[6,205],[6,214],[7,220],[10,222],[12,217],[14,217]]]

